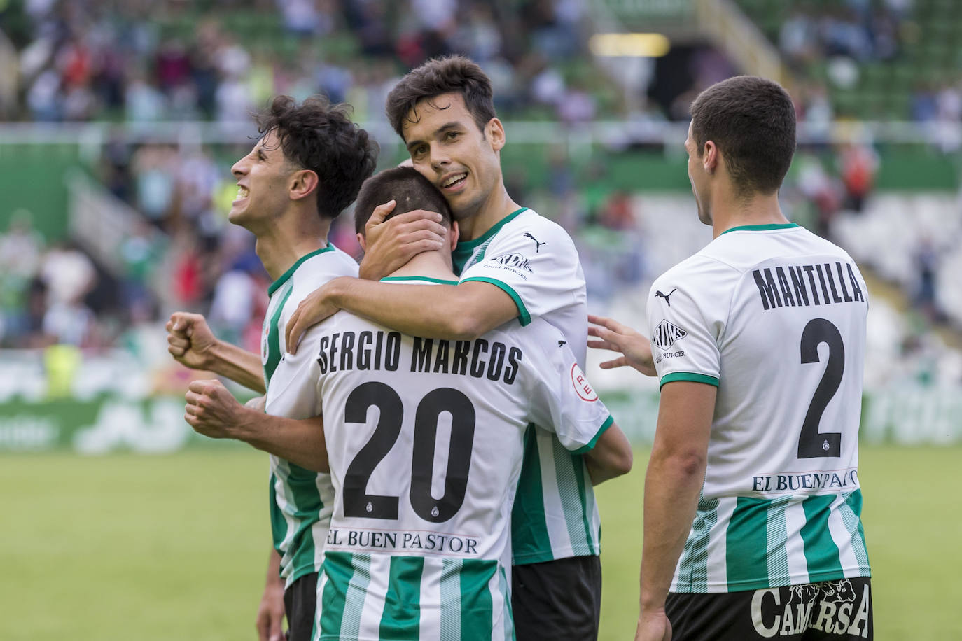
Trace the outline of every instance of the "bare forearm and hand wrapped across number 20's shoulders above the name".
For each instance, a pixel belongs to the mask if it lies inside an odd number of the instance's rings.
[[[518,306],[500,287],[462,284],[406,284],[339,278],[301,301],[287,324],[291,354],[308,328],[338,309],[363,316],[400,333],[447,340],[473,340],[518,317]]]

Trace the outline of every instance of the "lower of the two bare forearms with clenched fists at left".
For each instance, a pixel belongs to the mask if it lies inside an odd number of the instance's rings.
[[[219,381],[193,381],[184,419],[211,438],[235,438],[312,472],[330,472],[320,416],[293,419],[243,407]]]

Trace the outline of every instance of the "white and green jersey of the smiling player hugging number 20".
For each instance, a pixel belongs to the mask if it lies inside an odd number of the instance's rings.
[[[452,259],[461,283],[494,284],[511,296],[522,326],[544,318],[557,328],[584,367],[585,277],[578,251],[564,229],[521,208],[486,234],[458,243]],[[532,427],[524,436],[524,463],[512,515],[515,565],[600,552],[600,518],[584,460],[562,447],[549,427]]]

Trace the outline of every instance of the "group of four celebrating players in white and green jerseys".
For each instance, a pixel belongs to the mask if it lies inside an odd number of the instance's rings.
[[[689,176],[715,240],[653,285],[650,342],[599,317],[589,332],[570,236],[505,189],[476,64],[425,62],[388,116],[412,166],[367,178],[341,107],[275,101],[231,211],[276,279],[261,358],[195,314],[167,326],[181,362],[266,390],[264,411],[216,381],[187,395],[196,431],[271,455],[261,639],[286,612],[291,641],[594,640],[592,487],[632,455],[582,373],[589,333],[621,354],[603,367],[662,385],[636,638],[871,638],[867,288],[778,207],[784,90],[739,78],[696,100]],[[355,198],[360,267],[327,242]]]

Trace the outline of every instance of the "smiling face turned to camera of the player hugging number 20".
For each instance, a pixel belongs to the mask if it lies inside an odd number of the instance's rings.
[[[497,118],[482,132],[461,94],[443,93],[418,102],[403,133],[415,169],[441,189],[456,219],[481,210],[501,182],[504,129]]]

